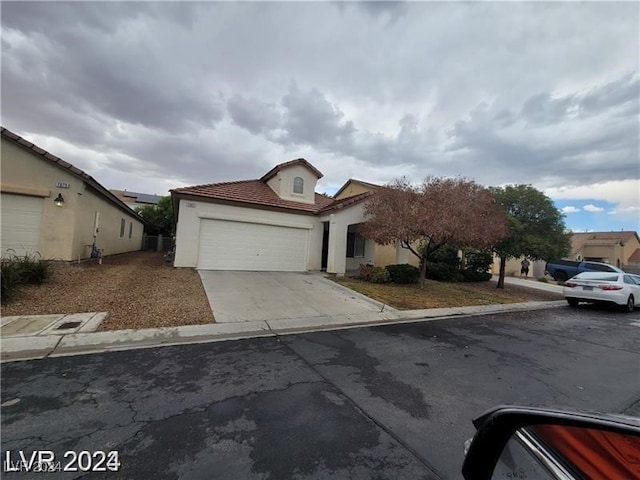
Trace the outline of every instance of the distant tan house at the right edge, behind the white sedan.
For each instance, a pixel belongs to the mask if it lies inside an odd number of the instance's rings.
[[[571,236],[571,258],[625,267],[640,267],[637,232],[586,232]]]

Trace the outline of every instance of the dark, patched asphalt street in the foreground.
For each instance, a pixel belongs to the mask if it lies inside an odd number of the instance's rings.
[[[3,478],[460,478],[490,407],[640,414],[639,340],[586,306],[5,363]]]

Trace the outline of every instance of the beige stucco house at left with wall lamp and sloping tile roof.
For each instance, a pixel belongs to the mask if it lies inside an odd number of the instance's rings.
[[[78,260],[140,250],[143,221],[93,177],[1,128],[2,256]]]

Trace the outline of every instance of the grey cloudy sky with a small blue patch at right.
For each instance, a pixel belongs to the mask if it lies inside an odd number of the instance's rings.
[[[544,191],[640,231],[640,4],[5,2],[2,125],[108,188],[353,177]]]

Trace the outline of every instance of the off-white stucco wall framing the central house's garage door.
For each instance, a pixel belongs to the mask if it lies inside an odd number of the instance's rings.
[[[306,170],[306,169],[305,169]],[[306,186],[305,186],[306,188]],[[257,210],[233,205],[219,205],[193,200],[180,200],[176,226],[176,267],[196,267],[200,222],[203,218],[235,220],[258,224],[310,227],[308,270],[320,270],[322,260],[322,223],[312,215]],[[241,241],[239,239],[239,241]]]

